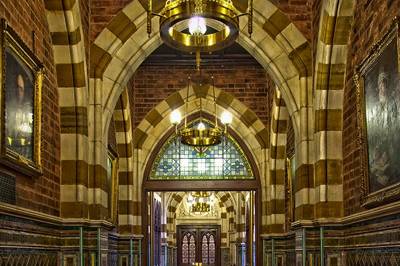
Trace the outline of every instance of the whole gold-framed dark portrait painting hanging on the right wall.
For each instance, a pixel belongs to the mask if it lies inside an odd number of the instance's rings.
[[[373,47],[357,70],[364,206],[400,198],[399,24]]]

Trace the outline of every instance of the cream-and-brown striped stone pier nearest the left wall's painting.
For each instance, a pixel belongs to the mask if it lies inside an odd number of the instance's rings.
[[[61,217],[88,218],[98,205],[104,214],[101,185],[88,180],[89,166],[85,48],[79,2],[45,1],[57,70],[61,120]],[[92,206],[90,206],[92,205]]]

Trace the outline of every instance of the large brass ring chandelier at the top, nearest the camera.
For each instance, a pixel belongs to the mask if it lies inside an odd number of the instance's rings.
[[[160,13],[153,12],[153,0],[148,0],[147,32],[152,32],[151,19],[160,17],[160,36],[168,46],[196,53],[214,52],[231,46],[239,35],[239,18],[248,16],[248,33],[253,31],[253,0],[247,13],[241,13],[232,0],[167,0]]]

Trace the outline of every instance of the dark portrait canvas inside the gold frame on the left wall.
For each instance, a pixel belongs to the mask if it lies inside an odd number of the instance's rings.
[[[11,49],[5,49],[5,144],[33,159],[34,75]]]

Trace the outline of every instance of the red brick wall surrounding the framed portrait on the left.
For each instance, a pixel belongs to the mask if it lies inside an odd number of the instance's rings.
[[[53,50],[44,1],[0,1],[0,17],[5,18],[32,48],[35,31],[36,56],[46,68],[42,92],[42,164],[44,175],[30,178],[17,175],[17,205],[59,215],[60,198],[60,123]],[[2,166],[1,166],[2,167]]]

